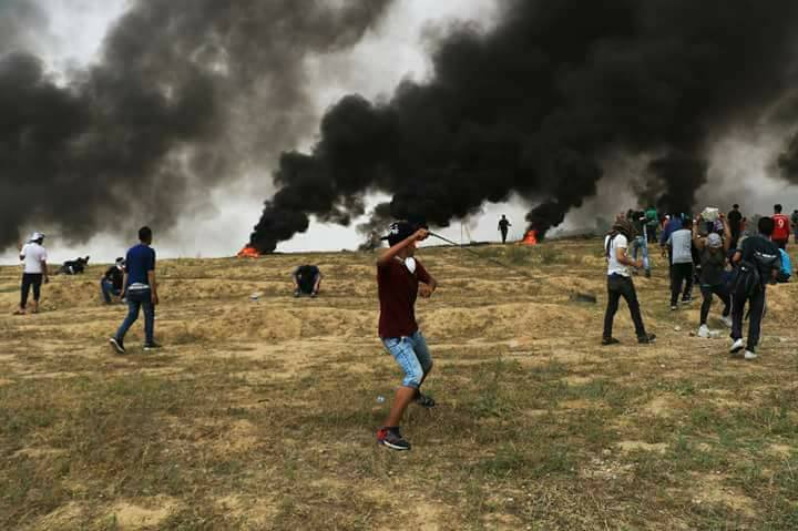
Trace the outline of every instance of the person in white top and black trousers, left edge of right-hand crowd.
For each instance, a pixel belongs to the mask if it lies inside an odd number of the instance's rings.
[[[634,228],[628,221],[615,222],[612,232],[604,238],[604,253],[607,259],[607,307],[604,315],[604,334],[602,345],[616,345],[621,341],[612,335],[613,320],[618,309],[621,297],[626,300],[632,321],[635,326],[637,343],[654,343],[656,336],[646,333],[643,316],[640,310],[637,293],[630,274],[630,267],[642,267],[643,261],[633,261],[628,256],[630,239],[634,236]]]

